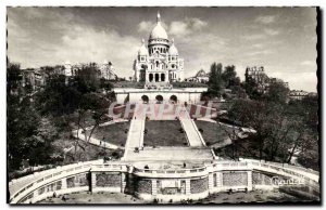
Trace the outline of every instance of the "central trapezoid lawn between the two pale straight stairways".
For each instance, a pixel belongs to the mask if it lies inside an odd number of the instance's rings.
[[[179,120],[146,121],[145,128],[143,146],[188,146],[186,133],[179,131]]]

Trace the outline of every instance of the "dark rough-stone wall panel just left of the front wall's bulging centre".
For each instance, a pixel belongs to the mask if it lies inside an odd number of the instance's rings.
[[[96,174],[96,186],[100,187],[120,187],[121,186],[121,173],[98,173]]]

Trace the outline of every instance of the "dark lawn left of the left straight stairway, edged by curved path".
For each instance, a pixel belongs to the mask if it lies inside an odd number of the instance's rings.
[[[127,140],[129,127],[129,121],[99,127],[95,130],[92,136],[116,146],[124,146]]]

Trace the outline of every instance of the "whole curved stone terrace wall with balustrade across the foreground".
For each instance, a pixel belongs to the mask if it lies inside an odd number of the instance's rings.
[[[152,200],[201,199],[226,191],[272,189],[300,185],[319,194],[316,171],[252,159],[215,161],[196,169],[139,169],[103,160],[79,162],[36,172],[9,183],[10,204],[34,204],[74,192],[118,192]]]

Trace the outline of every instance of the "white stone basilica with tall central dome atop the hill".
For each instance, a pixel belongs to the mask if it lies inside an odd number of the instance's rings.
[[[184,58],[179,57],[174,40],[168,40],[158,13],[156,25],[150,34],[148,48],[142,45],[134,62],[135,81],[172,82],[184,81]]]

